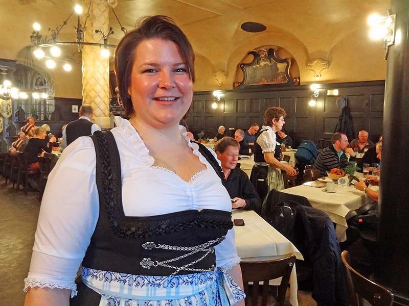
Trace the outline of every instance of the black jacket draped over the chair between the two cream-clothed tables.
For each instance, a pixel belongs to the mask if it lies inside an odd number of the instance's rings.
[[[294,222],[289,222],[292,228],[286,229],[285,237],[312,266],[312,297],[318,306],[347,306],[341,251],[334,224],[326,213],[312,208],[309,201],[309,206],[301,205],[300,199],[308,201],[304,197],[272,189],[263,203],[261,216],[267,221],[274,220],[271,215],[275,211],[273,208],[283,202],[295,211]]]

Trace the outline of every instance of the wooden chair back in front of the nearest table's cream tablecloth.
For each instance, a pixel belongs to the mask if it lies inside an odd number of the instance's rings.
[[[246,294],[245,304],[258,305],[259,295],[261,295],[261,306],[267,305],[267,296],[270,293],[278,305],[284,305],[285,294],[294,263],[295,256],[289,256],[270,261],[241,262],[241,272],[243,274],[244,292]],[[269,280],[282,277],[281,284],[277,292],[269,290]],[[248,282],[253,282],[252,290],[249,290]],[[263,282],[262,285],[259,282]],[[250,303],[251,301],[251,303]]]

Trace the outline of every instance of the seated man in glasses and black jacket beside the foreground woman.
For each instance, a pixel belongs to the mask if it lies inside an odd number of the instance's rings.
[[[240,168],[236,168],[239,149],[239,143],[232,137],[223,137],[215,147],[226,180],[226,189],[232,198],[233,209],[243,208],[259,213],[261,210],[259,195],[247,174]]]

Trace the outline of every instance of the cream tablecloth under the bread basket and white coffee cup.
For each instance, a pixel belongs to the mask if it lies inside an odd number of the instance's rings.
[[[336,223],[335,232],[338,240],[342,242],[346,240],[347,219],[352,216],[351,212],[369,205],[370,198],[353,186],[335,185],[335,191],[328,193],[324,192],[323,188],[304,185],[281,190],[281,192],[304,196],[310,201],[313,208],[326,212]]]

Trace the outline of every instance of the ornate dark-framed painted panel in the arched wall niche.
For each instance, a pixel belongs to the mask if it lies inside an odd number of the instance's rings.
[[[243,71],[243,80],[235,84],[235,88],[260,85],[299,85],[300,78],[292,78],[289,69],[291,59],[279,59],[276,56],[277,48],[268,50],[253,50],[247,55],[253,55],[253,61],[248,64],[240,64]]]

